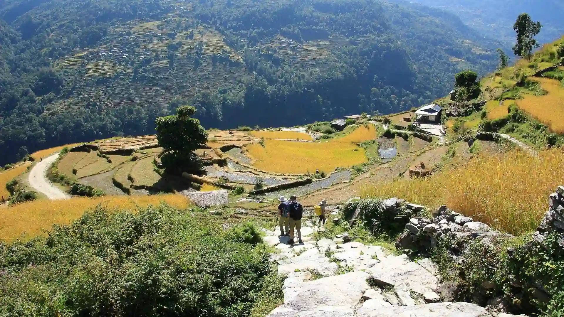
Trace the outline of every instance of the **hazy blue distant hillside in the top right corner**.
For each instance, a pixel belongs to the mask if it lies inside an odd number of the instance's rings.
[[[402,0],[403,1],[403,0]],[[455,13],[484,36],[506,43],[515,41],[513,23],[527,12],[543,25],[540,43],[555,41],[564,33],[564,2],[561,0],[413,0],[422,5]]]

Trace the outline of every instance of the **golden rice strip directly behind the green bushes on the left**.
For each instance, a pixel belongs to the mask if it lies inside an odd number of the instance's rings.
[[[74,197],[69,200],[36,200],[10,206],[0,213],[0,240],[18,237],[31,239],[49,230],[53,224],[70,224],[90,208],[99,204],[112,209],[136,212],[136,206],[159,205],[161,201],[185,209],[191,203],[182,195]]]

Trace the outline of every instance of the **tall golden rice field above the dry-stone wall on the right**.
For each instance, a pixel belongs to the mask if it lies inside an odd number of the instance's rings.
[[[548,209],[548,195],[564,183],[564,152],[539,157],[514,149],[504,155],[479,155],[466,166],[424,179],[398,179],[357,188],[362,197],[400,197],[457,212],[511,234],[535,230]],[[530,175],[530,177],[526,177]]]

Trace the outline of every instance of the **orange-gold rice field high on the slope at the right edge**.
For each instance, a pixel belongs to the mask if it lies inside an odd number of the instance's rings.
[[[564,134],[564,89],[557,80],[535,78],[547,95],[534,96],[525,94],[517,100],[519,108],[530,113],[540,122],[548,125],[554,133]]]

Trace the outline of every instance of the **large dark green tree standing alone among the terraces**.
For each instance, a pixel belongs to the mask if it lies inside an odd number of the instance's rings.
[[[176,115],[155,121],[158,144],[166,151],[161,160],[167,171],[194,171],[201,166],[194,151],[205,146],[208,133],[192,118],[195,113],[196,108],[182,105]]]

